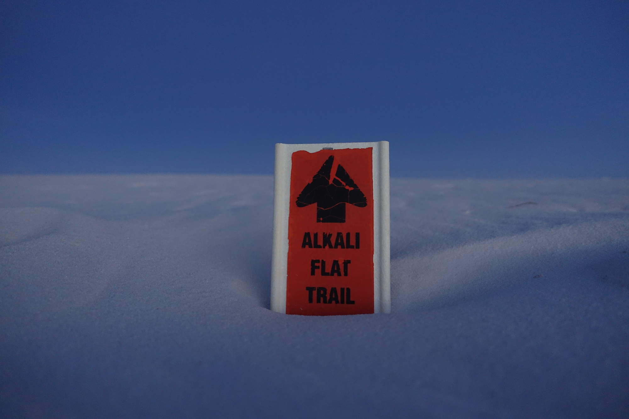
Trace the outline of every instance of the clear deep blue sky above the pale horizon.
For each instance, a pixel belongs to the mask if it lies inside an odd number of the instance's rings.
[[[270,174],[391,142],[404,177],[629,177],[625,1],[13,1],[3,173]]]

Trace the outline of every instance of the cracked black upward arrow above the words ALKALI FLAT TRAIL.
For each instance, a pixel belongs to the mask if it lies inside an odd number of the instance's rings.
[[[342,165],[339,164],[335,176],[330,177],[333,163],[331,155],[297,197],[300,207],[316,203],[318,223],[345,223],[345,204],[367,206],[367,198]]]

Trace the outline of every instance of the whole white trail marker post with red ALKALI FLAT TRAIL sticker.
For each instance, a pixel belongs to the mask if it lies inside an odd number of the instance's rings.
[[[271,309],[389,313],[389,143],[276,144]]]

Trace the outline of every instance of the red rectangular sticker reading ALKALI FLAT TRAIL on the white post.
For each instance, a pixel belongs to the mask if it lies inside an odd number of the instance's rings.
[[[374,313],[372,148],[292,153],[286,313]]]

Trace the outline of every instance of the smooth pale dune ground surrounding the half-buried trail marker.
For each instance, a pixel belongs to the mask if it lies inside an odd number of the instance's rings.
[[[392,314],[269,307],[272,177],[0,177],[0,416],[629,417],[629,181],[391,185]]]

